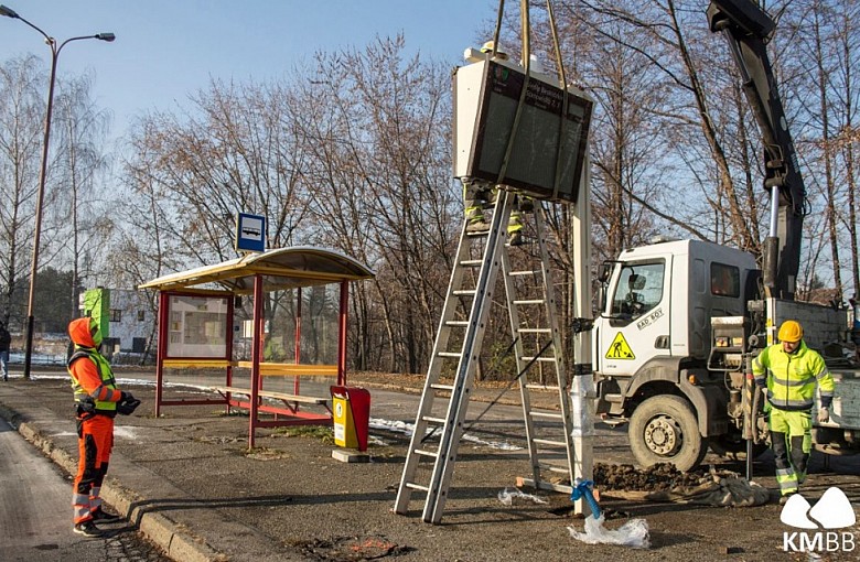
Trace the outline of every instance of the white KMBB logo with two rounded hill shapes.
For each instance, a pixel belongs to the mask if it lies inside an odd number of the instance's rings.
[[[788,498],[780,520],[797,529],[842,529],[857,522],[854,509],[842,490],[828,488],[815,507],[799,494]],[[786,552],[851,552],[854,550],[854,533],[850,531],[783,533],[783,550]]]

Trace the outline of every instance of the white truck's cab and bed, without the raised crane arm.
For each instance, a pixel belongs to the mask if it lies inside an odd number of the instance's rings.
[[[744,436],[763,450],[749,359],[775,342],[787,318],[804,325],[807,345],[825,355],[837,379],[830,422],[815,428],[816,444],[828,453],[860,452],[860,372],[842,354],[846,310],[762,299],[753,257],[707,241],[626,250],[604,264],[601,278],[592,331],[596,413],[608,423],[630,422],[638,463],[687,471],[709,445],[745,453]]]

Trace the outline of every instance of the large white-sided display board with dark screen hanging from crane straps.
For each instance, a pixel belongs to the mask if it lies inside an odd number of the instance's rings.
[[[524,87],[527,90],[517,120]],[[563,90],[551,77],[526,79],[524,68],[508,61],[487,57],[458,68],[454,176],[504,183],[537,198],[576,203],[593,101],[578,88],[569,87],[562,120],[563,97]]]

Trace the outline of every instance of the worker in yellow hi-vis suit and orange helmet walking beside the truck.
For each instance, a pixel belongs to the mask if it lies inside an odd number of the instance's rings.
[[[824,358],[803,341],[804,329],[797,321],[787,320],[777,334],[780,343],[768,346],[753,359],[755,383],[767,392],[771,448],[776,463],[776,483],[781,504],[806,478],[806,465],[813,448],[813,403],[819,389],[821,408],[818,422],[830,419],[834,377]]]

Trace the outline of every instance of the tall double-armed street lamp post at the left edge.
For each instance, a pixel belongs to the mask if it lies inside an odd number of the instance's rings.
[[[51,114],[53,112],[54,109],[54,83],[56,80],[56,62],[57,58],[60,57],[60,52],[63,50],[63,47],[73,41],[82,41],[85,39],[97,39],[99,41],[111,42],[116,39],[116,36],[112,33],[97,33],[95,35],[80,35],[77,37],[67,39],[64,42],[60,43],[60,45],[57,46],[57,42],[54,37],[49,36],[47,33],[45,33],[37,26],[33,25],[25,19],[18,15],[18,13],[14,10],[0,4],[0,15],[6,15],[7,18],[12,18],[15,20],[21,20],[22,22],[26,23],[29,26],[33,28],[39,33],[41,33],[42,36],[45,37],[45,43],[47,44],[47,46],[51,47],[51,82],[49,83],[49,87],[47,87],[45,133],[44,133],[44,141],[42,145],[42,167],[39,172],[39,192],[36,194],[36,208],[35,208],[35,231],[33,234],[33,259],[30,264],[30,296],[28,298],[28,302],[26,302],[26,347],[24,352],[24,379],[29,379],[30,365],[33,358],[33,301],[35,295],[36,270],[39,269],[39,239],[42,234],[42,201],[45,193],[45,174],[47,172],[47,147],[49,147],[49,141],[51,140]]]

